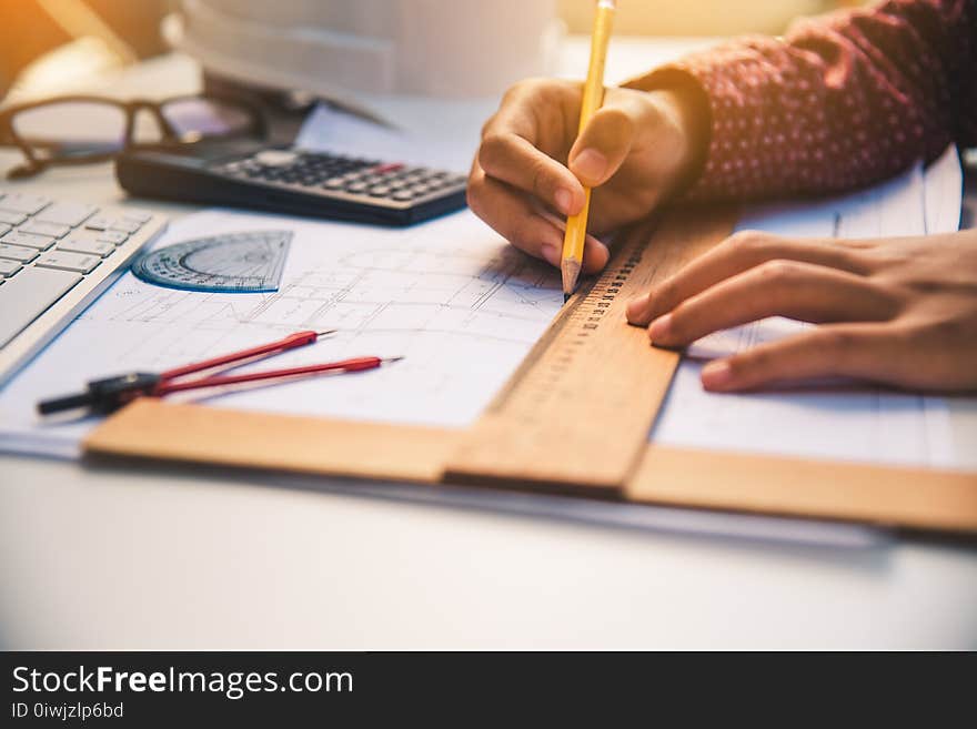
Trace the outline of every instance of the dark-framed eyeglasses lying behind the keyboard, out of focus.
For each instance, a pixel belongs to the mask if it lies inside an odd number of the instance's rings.
[[[263,138],[265,133],[266,123],[256,107],[213,94],[162,102],[68,95],[0,111],[0,144],[20,148],[26,158],[7,172],[9,180],[32,176],[52,165],[103,162],[139,146]]]

